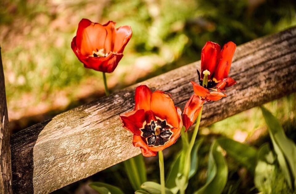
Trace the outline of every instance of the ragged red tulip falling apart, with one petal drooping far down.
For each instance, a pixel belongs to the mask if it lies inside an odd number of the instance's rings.
[[[208,41],[205,44],[201,51],[201,74],[197,71],[199,84],[191,81],[195,94],[188,100],[183,111],[186,130],[196,120],[204,101],[217,101],[226,97],[222,91],[236,84],[234,79],[228,77],[235,49],[233,42],[225,44],[222,50],[215,42]]]

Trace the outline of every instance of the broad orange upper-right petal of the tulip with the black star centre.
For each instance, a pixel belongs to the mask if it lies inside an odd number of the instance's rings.
[[[150,100],[150,108],[155,116],[166,119],[167,123],[177,128],[179,125],[177,111],[173,100],[169,95],[162,91],[152,93]]]

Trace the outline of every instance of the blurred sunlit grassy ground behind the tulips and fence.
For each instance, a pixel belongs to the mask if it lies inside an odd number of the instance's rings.
[[[133,37],[125,48],[125,57],[107,75],[109,87],[117,90],[199,60],[206,41],[223,45],[231,40],[240,45],[295,26],[296,3],[294,0],[1,0],[0,44],[12,133],[104,94],[101,72],[85,69],[70,47],[81,18],[101,23],[113,20],[117,26],[132,27]],[[281,119],[294,139],[295,106],[295,94],[266,106]],[[253,108],[202,129],[200,135],[206,135],[210,141],[211,135],[223,134],[260,145],[260,139],[268,139],[264,126],[260,111]],[[170,153],[173,152],[167,153],[168,163],[173,157]],[[146,163],[155,161],[149,159]],[[157,165],[150,165],[148,173],[155,170],[151,166],[157,169]],[[237,175],[239,167],[233,164],[229,169]],[[91,179],[100,180],[98,177],[102,176],[105,179],[101,181],[112,184],[114,177],[108,177],[110,171],[124,176],[118,164]],[[203,173],[199,174],[201,186]],[[251,189],[250,181],[236,182],[236,178],[228,180],[234,181],[236,191],[242,187],[250,193],[256,191]],[[76,190],[87,181],[61,192]],[[129,193],[128,188],[126,192]]]

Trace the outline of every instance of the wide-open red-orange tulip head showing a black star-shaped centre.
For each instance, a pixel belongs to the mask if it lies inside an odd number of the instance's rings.
[[[151,92],[141,85],[136,88],[134,111],[121,114],[122,127],[134,134],[133,144],[143,156],[156,156],[176,142],[183,126],[181,109],[162,91]]]

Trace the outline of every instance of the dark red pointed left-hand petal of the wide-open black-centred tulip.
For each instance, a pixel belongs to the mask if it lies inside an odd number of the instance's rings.
[[[145,123],[145,111],[143,109],[131,111],[119,116],[122,127],[135,135],[141,135],[140,129]]]

